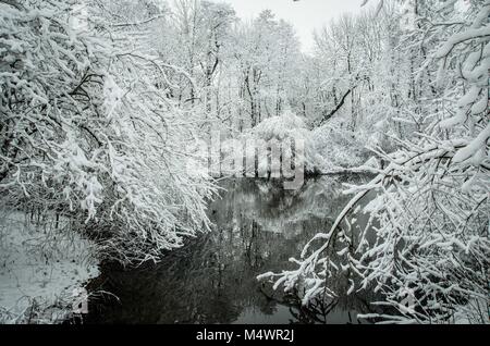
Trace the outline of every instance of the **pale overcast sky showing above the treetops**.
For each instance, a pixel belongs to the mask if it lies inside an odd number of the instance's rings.
[[[363,0],[213,0],[231,3],[236,14],[244,20],[269,9],[277,18],[283,18],[296,27],[303,51],[313,47],[313,30],[344,12],[358,12]],[[370,2],[376,3],[377,0]]]

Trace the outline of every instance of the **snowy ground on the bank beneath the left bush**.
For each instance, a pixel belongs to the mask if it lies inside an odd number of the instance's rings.
[[[0,210],[0,323],[60,322],[74,289],[99,274],[93,245],[65,223],[53,225]]]

